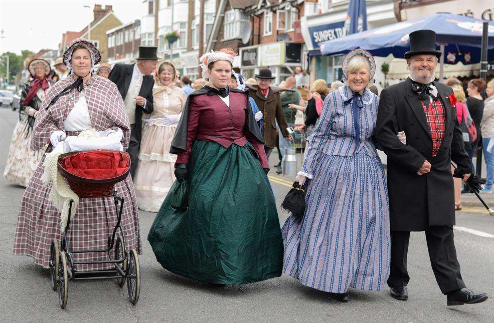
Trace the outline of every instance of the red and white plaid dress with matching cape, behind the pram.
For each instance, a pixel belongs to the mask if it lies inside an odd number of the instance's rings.
[[[107,79],[93,74],[84,85],[82,92],[72,89],[52,105],[48,111],[45,110],[51,100],[73,82],[71,77],[67,77],[57,82],[47,92],[33,128],[31,149],[42,149],[49,143],[50,135],[54,131],[64,130],[63,122],[81,94],[84,95],[88,104],[91,127],[97,131],[108,128],[122,129],[124,134],[122,145],[126,149],[130,137],[128,117],[120,93],[115,84]],[[79,132],[67,131],[67,136],[78,134]],[[44,159],[45,157],[39,164],[21,201],[14,241],[14,254],[31,256],[35,259],[35,263],[47,268],[51,240],[57,238],[60,241],[63,228],[60,225],[60,212],[49,199],[50,188],[45,187],[41,181]],[[115,190],[118,196],[125,198],[121,219],[125,246],[127,249],[134,248],[138,253],[141,253],[139,217],[130,175],[124,181],[117,183]],[[81,198],[76,214],[70,221],[68,231],[71,249],[73,251],[105,249],[108,236],[111,235],[116,221],[117,213],[113,198]],[[73,255],[75,261],[108,260],[107,253],[76,253]],[[100,270],[111,267],[113,265],[79,265],[78,270]]]

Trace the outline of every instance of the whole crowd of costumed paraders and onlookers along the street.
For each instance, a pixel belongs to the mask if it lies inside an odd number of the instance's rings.
[[[156,47],[139,47],[136,63],[111,67],[100,63],[90,42],[75,39],[55,62],[56,83],[48,62],[34,59],[4,174],[26,186],[14,254],[48,267],[50,242],[61,234],[60,212],[41,179],[44,153],[67,136],[112,129],[122,131],[131,160],[128,177],[115,187],[129,201],[125,244],[141,253],[138,209],[157,212],[147,240],[157,261],[176,274],[243,284],[285,273],[341,301],[349,300],[349,288],[387,284],[392,297],[406,300],[410,232],[425,231],[447,304],[487,299],[465,287],[452,226],[480,142],[483,192],[492,192],[494,81],[486,99],[481,79],[468,83],[468,98],[458,80],[434,81],[441,53],[429,30],[410,34],[410,77],[380,96],[372,84],[377,67],[365,50],[346,55],[342,82],[318,79],[310,86],[300,68],[277,86],[267,68],[244,80],[233,71],[235,55],[230,49],[204,54],[195,81],[161,61]],[[305,147],[295,177],[305,210],[280,227],[268,159],[277,147],[282,172],[296,133]],[[378,149],[388,156],[387,176]],[[452,174],[461,179],[453,182]],[[177,209],[174,199],[184,187],[187,206]],[[104,249],[112,203],[79,201],[71,229],[78,233],[76,250]]]

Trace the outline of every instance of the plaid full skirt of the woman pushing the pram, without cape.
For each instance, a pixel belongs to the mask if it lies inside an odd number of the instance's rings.
[[[22,197],[14,240],[14,254],[33,257],[36,264],[48,268],[51,241],[57,238],[60,244],[64,229],[60,224],[60,212],[49,199],[51,188],[45,187],[41,181],[44,165],[43,158]],[[139,217],[130,174],[124,181],[115,184],[115,190],[118,196],[125,198],[120,222],[125,247],[142,253]],[[67,233],[71,251],[106,249],[108,237],[112,234],[116,222],[117,212],[113,197],[80,198]],[[120,235],[119,230],[117,230],[118,235]],[[74,261],[109,260],[106,252],[74,253],[73,256]],[[113,265],[76,266],[79,271],[108,268],[113,268]]]

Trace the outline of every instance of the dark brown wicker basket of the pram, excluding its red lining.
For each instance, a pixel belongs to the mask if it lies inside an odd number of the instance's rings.
[[[125,152],[113,151],[113,150],[101,150],[109,152],[118,152],[120,154],[126,154]],[[70,153],[62,154],[58,157],[58,172],[67,180],[70,189],[74,191],[79,197],[105,197],[113,194],[115,190],[115,184],[123,181],[130,171],[130,159],[129,165],[125,172],[121,175],[112,178],[105,179],[93,179],[74,175],[69,173],[63,166],[63,159],[67,156],[83,153],[83,151],[74,151]]]

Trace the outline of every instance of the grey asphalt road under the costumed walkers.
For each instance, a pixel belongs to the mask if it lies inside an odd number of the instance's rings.
[[[0,171],[3,173],[17,113],[0,108]],[[275,156],[271,163],[274,164]],[[274,173],[274,172],[272,172]],[[277,205],[289,190],[290,179],[272,177]],[[50,289],[49,273],[25,256],[13,256],[14,232],[24,189],[0,180],[0,321],[493,321],[494,299],[476,305],[446,306],[430,267],[425,236],[413,233],[408,254],[408,301],[377,292],[350,290],[341,303],[326,293],[279,278],[240,286],[217,287],[191,281],[163,269],[146,240],[153,213],[140,212],[143,254],[140,256],[141,293],[137,305],[126,288],[114,281],[69,281],[68,304],[62,310]],[[494,297],[494,217],[481,209],[457,214],[455,241],[467,286]],[[280,211],[280,224],[287,214]],[[471,229],[476,231],[471,231]],[[472,233],[473,232],[473,233]]]

